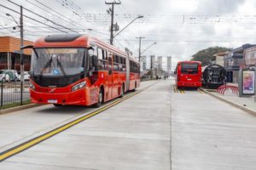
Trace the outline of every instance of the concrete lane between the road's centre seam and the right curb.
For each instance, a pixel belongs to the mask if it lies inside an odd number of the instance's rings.
[[[256,116],[196,90],[172,90],[172,169],[255,170]]]

